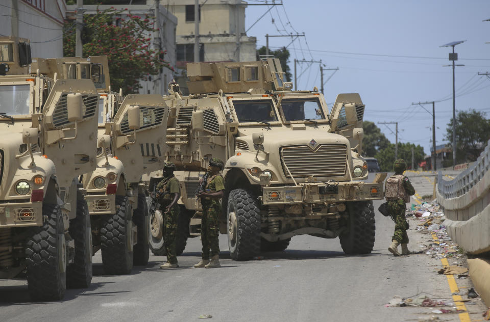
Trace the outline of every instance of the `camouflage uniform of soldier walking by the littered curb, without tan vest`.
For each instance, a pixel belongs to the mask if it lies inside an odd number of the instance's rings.
[[[403,159],[398,159],[395,162],[394,170],[395,175],[403,175],[403,172],[406,169],[406,164]],[[405,189],[406,194],[409,196],[413,196],[415,194],[415,189],[413,189],[410,180],[403,176],[402,185]],[[396,200],[388,200],[388,212],[391,216],[391,219],[395,221],[395,233],[391,240],[397,240],[400,244],[408,244],[408,234],[406,227],[406,218],[405,218],[405,201],[403,199]]]

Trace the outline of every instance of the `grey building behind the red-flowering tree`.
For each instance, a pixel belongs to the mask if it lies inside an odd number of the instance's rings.
[[[116,3],[116,1],[115,1]],[[162,1],[163,3],[163,1]],[[113,7],[117,11],[121,11],[121,18],[124,19],[126,14],[131,13],[133,15],[149,15],[156,16],[156,2],[147,1],[146,5],[99,5],[99,6],[83,6],[85,10],[84,14],[95,14],[97,9],[103,11]],[[66,6],[67,14],[75,14],[77,6]],[[170,64],[171,67],[176,67],[176,47],[175,47],[175,33],[177,27],[177,18],[171,14],[166,6],[160,4],[159,7],[159,21],[160,31],[153,34],[149,34],[151,38],[151,45],[155,43],[156,37],[159,36],[160,46],[162,50],[166,50],[164,59]],[[110,62],[109,62],[110,64]],[[139,90],[141,94],[167,94],[167,85],[174,78],[174,72],[168,68],[162,68],[160,74],[152,75],[149,81],[141,81],[142,88]],[[118,91],[118,89],[112,89]]]

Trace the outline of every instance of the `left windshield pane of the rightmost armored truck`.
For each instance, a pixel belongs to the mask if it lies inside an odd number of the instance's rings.
[[[238,122],[274,122],[277,115],[271,99],[233,101]]]

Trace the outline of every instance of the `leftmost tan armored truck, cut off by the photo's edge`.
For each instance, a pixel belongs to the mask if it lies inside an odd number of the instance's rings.
[[[92,279],[78,177],[96,165],[99,95],[90,79],[29,74],[29,41],[0,38],[0,278],[27,268],[33,300]]]

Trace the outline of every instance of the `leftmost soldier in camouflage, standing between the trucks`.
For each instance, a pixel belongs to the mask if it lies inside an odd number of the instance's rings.
[[[175,245],[177,239],[177,223],[179,221],[180,198],[179,180],[174,176],[175,165],[165,162],[163,166],[163,180],[158,183],[157,198],[160,209],[163,211],[163,244],[167,254],[167,262],[160,265],[161,269],[174,269],[179,267]]]

